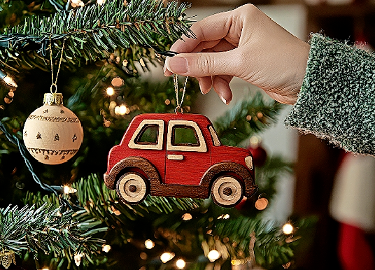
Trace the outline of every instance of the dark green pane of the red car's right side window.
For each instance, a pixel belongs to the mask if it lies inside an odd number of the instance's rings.
[[[174,125],[172,129],[172,145],[199,146],[197,132],[194,127]]]

